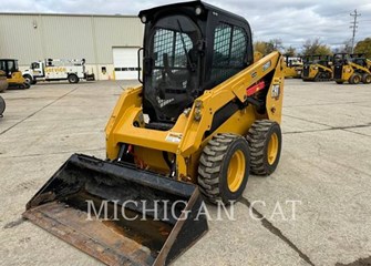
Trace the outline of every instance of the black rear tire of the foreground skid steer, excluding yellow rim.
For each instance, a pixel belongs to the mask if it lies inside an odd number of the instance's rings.
[[[274,163],[268,161],[268,145],[271,135],[278,139],[277,155]],[[279,124],[270,120],[255,121],[246,136],[250,145],[251,173],[256,175],[270,175],[277,168],[282,146],[282,134]]]

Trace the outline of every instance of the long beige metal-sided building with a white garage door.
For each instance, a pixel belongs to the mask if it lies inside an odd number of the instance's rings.
[[[20,69],[48,58],[85,59],[97,80],[137,79],[144,25],[136,16],[0,13],[0,58]]]

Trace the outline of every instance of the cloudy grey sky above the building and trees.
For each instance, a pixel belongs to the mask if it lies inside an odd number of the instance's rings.
[[[137,14],[140,10],[179,2],[177,0],[11,0],[1,12]],[[354,9],[358,18],[355,41],[371,37],[370,0],[208,0],[210,4],[245,17],[254,40],[281,39],[285,47],[302,47],[307,39],[320,38],[332,48],[352,35],[349,28]]]

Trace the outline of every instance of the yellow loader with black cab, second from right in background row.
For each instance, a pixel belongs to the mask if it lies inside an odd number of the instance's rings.
[[[302,80],[303,81],[331,81],[332,57],[330,55],[306,55],[303,57]]]

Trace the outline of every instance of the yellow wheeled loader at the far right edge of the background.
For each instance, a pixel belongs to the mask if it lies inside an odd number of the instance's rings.
[[[364,54],[336,53],[333,55],[333,79],[338,84],[371,83],[371,61]]]

